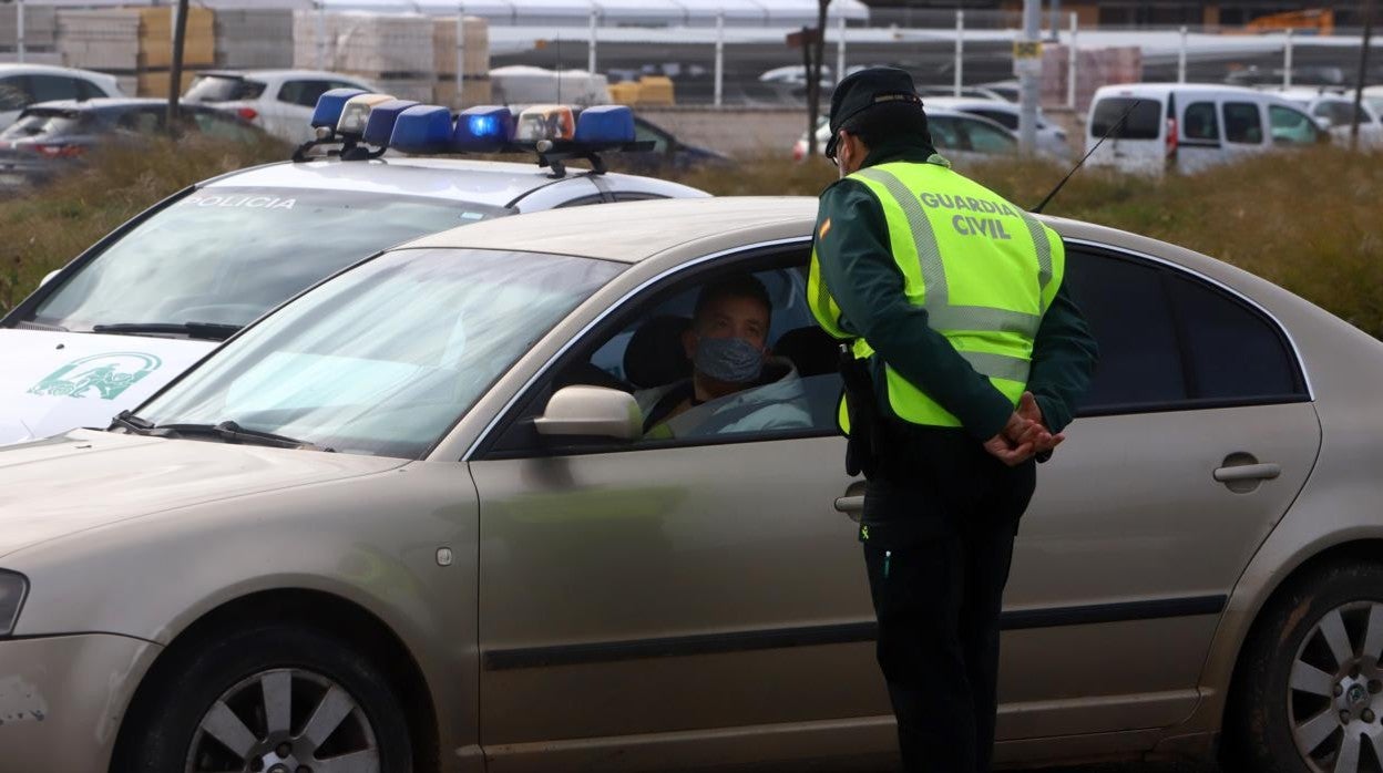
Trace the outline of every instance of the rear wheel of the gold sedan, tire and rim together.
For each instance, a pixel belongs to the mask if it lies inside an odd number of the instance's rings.
[[[1326,773],[1383,763],[1383,566],[1293,582],[1246,643],[1225,715],[1227,770]]]

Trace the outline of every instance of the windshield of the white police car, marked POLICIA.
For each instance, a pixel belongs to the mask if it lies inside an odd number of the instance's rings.
[[[314,282],[384,249],[505,210],[422,196],[202,188],[83,266],[29,321],[245,325]]]

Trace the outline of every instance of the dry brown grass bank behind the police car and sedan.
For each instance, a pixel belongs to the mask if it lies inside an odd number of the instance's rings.
[[[0,201],[0,311],[104,234],[180,188],[288,158],[281,145],[163,140],[112,149],[79,173]],[[1033,206],[1066,169],[996,162],[963,169]],[[816,195],[835,178],[820,159],[745,160],[675,176],[718,195]],[[1196,176],[1151,181],[1086,169],[1047,213],[1164,239],[1252,271],[1383,337],[1383,153],[1342,148],[1256,156]]]

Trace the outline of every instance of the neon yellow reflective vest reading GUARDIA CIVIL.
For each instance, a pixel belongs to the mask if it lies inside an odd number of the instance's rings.
[[[867,187],[884,209],[889,246],[909,300],[927,308],[932,329],[1017,405],[1028,384],[1041,315],[1065,271],[1061,238],[1032,214],[945,166],[888,163],[851,177]],[[835,337],[851,337],[815,253],[808,283],[812,311],[822,326]],[[873,354],[863,340],[855,340],[853,351],[860,358]],[[887,364],[885,376],[889,405],[899,418],[917,425],[960,426]]]

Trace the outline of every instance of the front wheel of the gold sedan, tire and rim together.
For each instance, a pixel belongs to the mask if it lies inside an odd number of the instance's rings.
[[[137,726],[122,733],[113,770],[296,773],[350,755],[361,770],[412,769],[398,693],[364,654],[325,632],[259,625],[205,637],[174,658]]]

